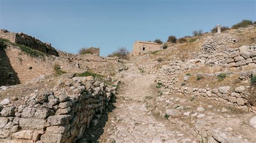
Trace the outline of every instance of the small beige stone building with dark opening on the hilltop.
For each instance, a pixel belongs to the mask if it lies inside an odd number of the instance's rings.
[[[146,41],[135,41],[133,44],[133,55],[138,56],[142,53],[149,52],[149,51],[157,51],[162,49],[160,44],[156,42],[146,42]]]

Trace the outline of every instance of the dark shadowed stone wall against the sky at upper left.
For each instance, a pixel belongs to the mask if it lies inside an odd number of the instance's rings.
[[[7,30],[0,30],[0,38],[8,39],[16,44],[25,45],[46,54],[58,56],[58,52],[51,44],[43,43],[35,37],[24,33],[12,33]]]

